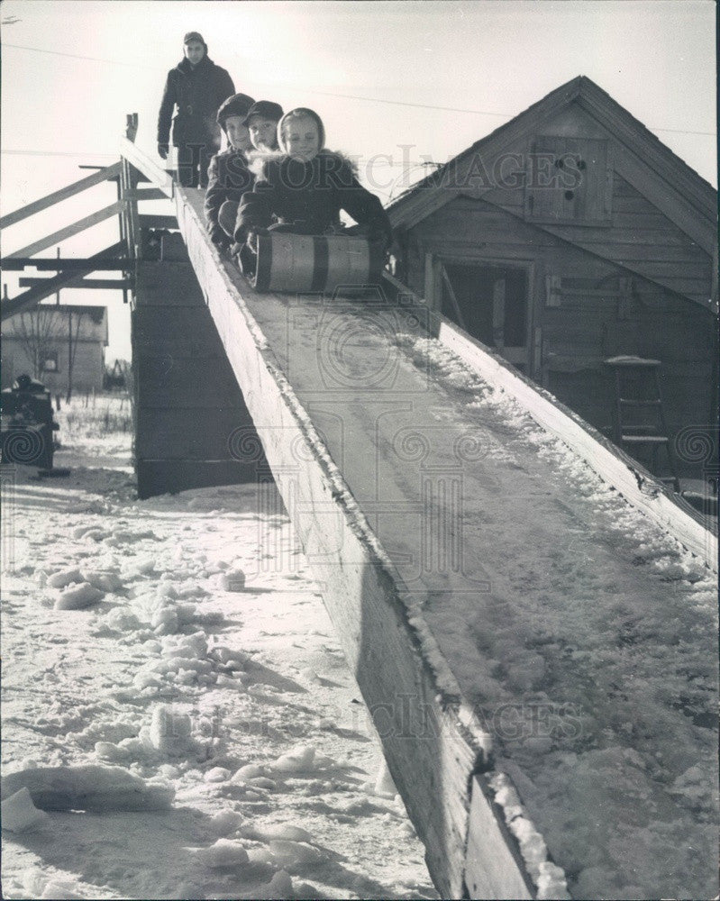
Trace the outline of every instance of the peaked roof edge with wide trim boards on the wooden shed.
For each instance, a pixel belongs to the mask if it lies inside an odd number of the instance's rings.
[[[643,168],[643,194],[693,241],[712,254],[717,235],[717,192],[712,185],[655,137],[595,82],[586,76],[573,78],[529,106],[510,122],[476,141],[442,168],[417,182],[387,207],[394,227],[411,227],[459,194],[482,196],[490,190],[454,187],[463,184],[478,153],[493,159],[509,145],[539,133],[545,121],[577,103],[610,132],[629,153],[615,164],[633,183]]]

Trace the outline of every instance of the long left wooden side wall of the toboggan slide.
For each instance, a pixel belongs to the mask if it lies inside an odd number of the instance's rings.
[[[286,370],[294,371],[287,359],[292,346],[271,347],[247,303],[251,297],[254,312],[264,307],[266,316],[275,316],[277,305],[284,311],[279,322],[291,323],[287,297],[252,291],[208,240],[199,193],[177,186],[175,190],[178,223],[205,301],[378,730],[388,768],[424,842],[436,886],[443,897],[469,896],[466,848],[472,795],[483,813],[481,832],[492,859],[484,860],[485,851],[479,856],[477,848],[473,851],[472,896],[533,897],[533,880],[492,791],[476,783],[473,792],[473,777],[491,764],[488,733],[463,701],[415,596],[328,451],[333,426],[342,432],[333,404],[315,411],[311,419],[286,375]],[[323,373],[314,376],[322,378]],[[332,384],[321,385],[320,397],[342,397],[347,404],[347,386],[339,387],[342,390],[336,391]],[[367,405],[370,397],[362,386],[351,385],[351,395],[358,387]],[[399,402],[407,407],[404,388],[400,394],[405,399]],[[376,406],[386,404],[382,386],[374,395]],[[325,441],[315,419],[323,423]],[[242,447],[241,435],[237,446]],[[337,451],[335,456],[342,456]],[[417,562],[411,560],[410,567]]]

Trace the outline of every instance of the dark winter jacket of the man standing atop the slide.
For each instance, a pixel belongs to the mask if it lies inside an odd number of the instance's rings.
[[[212,59],[204,56],[195,68],[182,59],[170,69],[165,83],[158,115],[158,143],[169,143],[172,121],[172,142],[176,147],[192,143],[219,147],[220,130],[215,116],[223,101],[234,93],[232,78]],[[178,112],[173,119],[176,106]]]

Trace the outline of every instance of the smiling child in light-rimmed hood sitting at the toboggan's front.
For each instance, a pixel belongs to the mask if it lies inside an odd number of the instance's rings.
[[[360,185],[351,163],[324,150],[320,116],[299,107],[278,123],[279,154],[267,156],[251,192],[242,196],[234,238],[256,249],[256,234],[269,228],[301,234],[336,230],[345,210],[358,223],[354,233],[387,247],[392,230],[378,197]]]

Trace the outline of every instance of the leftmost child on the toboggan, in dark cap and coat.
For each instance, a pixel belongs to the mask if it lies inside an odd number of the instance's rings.
[[[251,140],[245,121],[256,105],[252,97],[234,94],[217,111],[217,123],[227,136],[229,146],[210,161],[205,221],[210,240],[220,250],[228,250],[232,244],[240,199],[255,182],[255,176],[248,168]]]

